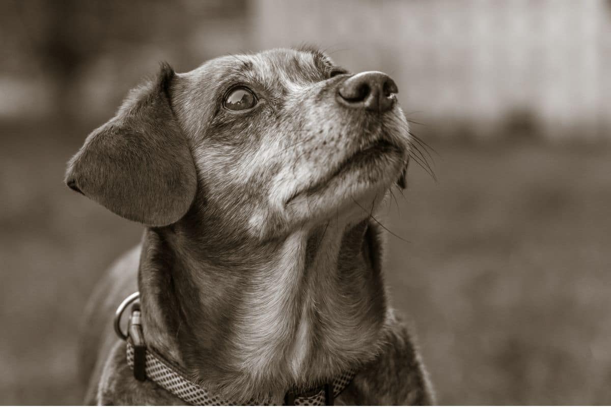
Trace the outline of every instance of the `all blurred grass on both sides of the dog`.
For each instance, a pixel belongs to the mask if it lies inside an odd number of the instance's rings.
[[[0,403],[81,402],[76,334],[141,227],[68,190],[90,123],[0,126]],[[59,142],[59,140],[64,140]],[[379,218],[387,283],[445,404],[611,402],[611,151],[434,146]]]

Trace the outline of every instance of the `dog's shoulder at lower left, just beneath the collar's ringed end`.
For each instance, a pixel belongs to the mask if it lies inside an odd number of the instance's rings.
[[[117,340],[106,359],[95,403],[98,405],[184,405],[150,380],[138,381],[126,362],[125,342]]]

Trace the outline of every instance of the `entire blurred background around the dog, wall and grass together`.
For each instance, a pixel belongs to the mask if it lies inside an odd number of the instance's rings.
[[[381,220],[439,402],[611,403],[611,2],[0,7],[0,403],[81,402],[82,308],[141,236],[62,183],[86,135],[161,60],[303,43],[389,73],[430,145]]]

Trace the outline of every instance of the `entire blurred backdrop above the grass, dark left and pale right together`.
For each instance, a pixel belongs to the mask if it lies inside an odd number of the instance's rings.
[[[313,43],[383,70],[423,136],[611,140],[609,0],[23,0],[0,13],[0,120],[108,118],[167,60]]]

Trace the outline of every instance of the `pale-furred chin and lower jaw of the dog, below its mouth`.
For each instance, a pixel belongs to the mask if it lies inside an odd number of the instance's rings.
[[[285,203],[285,209],[301,222],[367,217],[400,177],[403,157],[400,147],[376,143],[295,193]]]

